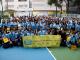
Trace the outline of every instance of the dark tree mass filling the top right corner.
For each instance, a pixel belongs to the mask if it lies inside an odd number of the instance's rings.
[[[65,0],[66,2],[66,12],[67,13],[79,13],[80,12],[80,0]],[[73,9],[70,9],[72,7]],[[77,9],[75,9],[77,7]]]

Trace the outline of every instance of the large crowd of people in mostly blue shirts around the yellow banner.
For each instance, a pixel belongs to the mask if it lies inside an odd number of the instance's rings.
[[[61,46],[80,46],[80,19],[73,17],[20,16],[0,23],[0,46],[23,46],[22,37],[61,35]]]

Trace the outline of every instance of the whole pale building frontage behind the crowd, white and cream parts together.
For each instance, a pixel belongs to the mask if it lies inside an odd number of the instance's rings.
[[[48,5],[48,0],[2,0],[2,2],[3,10],[14,10],[14,16],[50,15],[56,10],[55,5]],[[62,8],[66,10],[65,3]]]

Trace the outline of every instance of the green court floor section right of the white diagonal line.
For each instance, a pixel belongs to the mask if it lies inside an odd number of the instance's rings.
[[[80,60],[80,48],[77,50],[70,50],[66,47],[49,48],[56,60]]]

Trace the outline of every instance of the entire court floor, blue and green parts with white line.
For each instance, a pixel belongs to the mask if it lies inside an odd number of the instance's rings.
[[[0,60],[80,60],[80,48],[0,48]]]

